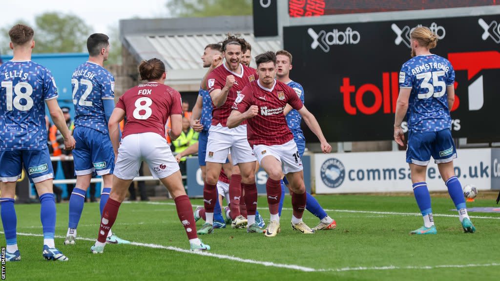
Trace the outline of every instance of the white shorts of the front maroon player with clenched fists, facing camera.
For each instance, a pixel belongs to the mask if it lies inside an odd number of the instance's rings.
[[[302,160],[300,160],[297,145],[293,139],[284,144],[253,145],[253,153],[257,157],[259,164],[262,158],[268,155],[278,159],[283,165],[284,174],[301,171],[303,169]]]

